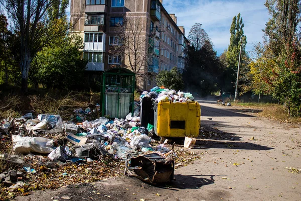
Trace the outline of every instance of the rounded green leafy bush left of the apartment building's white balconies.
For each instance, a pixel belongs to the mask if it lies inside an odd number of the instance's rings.
[[[31,80],[47,88],[73,89],[83,83],[87,61],[82,59],[83,42],[72,35],[43,48],[33,61]]]

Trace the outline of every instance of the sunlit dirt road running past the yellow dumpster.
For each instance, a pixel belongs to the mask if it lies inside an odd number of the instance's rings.
[[[252,109],[199,103],[203,135],[191,151],[202,158],[177,169],[170,186],[124,176],[16,200],[301,200],[301,173],[286,169],[301,169],[299,127]]]

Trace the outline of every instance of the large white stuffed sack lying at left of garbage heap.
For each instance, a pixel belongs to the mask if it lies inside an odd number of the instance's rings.
[[[22,137],[20,135],[13,135],[13,150],[22,154],[29,154],[31,152],[49,154],[53,149],[53,140],[42,137]]]

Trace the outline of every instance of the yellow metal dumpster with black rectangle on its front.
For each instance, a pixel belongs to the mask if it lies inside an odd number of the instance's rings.
[[[164,138],[198,136],[201,107],[198,102],[156,104],[154,127],[156,135]]]

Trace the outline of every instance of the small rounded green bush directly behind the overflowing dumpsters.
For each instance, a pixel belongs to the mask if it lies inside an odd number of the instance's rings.
[[[174,90],[183,90],[184,82],[182,74],[177,70],[177,67],[173,67],[171,71],[162,70],[156,77],[157,85],[163,85],[166,88]]]

